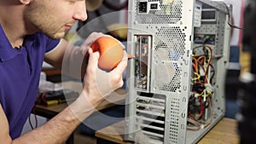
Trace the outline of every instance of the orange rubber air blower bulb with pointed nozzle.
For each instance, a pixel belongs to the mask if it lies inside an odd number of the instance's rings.
[[[99,51],[100,58],[98,66],[102,70],[111,71],[114,67],[118,66],[119,62],[123,59],[123,47],[113,37],[103,36],[96,39],[91,45],[94,52]],[[134,58],[133,55],[128,55],[128,58]]]

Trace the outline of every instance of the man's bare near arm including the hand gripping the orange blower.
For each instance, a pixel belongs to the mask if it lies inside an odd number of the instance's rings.
[[[61,144],[87,118],[109,93],[123,85],[122,73],[127,66],[127,55],[111,72],[103,72],[98,67],[99,53],[89,49],[89,62],[84,75],[82,93],[79,98],[47,123],[21,135],[15,140],[9,136],[9,124],[3,108],[0,107],[0,144]],[[100,83],[99,83],[100,82]]]

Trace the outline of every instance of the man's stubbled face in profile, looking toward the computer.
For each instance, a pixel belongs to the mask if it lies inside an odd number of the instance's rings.
[[[27,29],[43,32],[59,39],[73,26],[75,20],[86,20],[84,0],[34,0],[26,10]]]

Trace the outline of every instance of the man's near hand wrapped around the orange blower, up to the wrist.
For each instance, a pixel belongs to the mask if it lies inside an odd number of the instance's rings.
[[[122,74],[125,71],[128,60],[125,51],[123,60],[110,72],[102,71],[98,67],[98,52],[92,52],[92,49],[89,49],[88,52],[90,59],[84,75],[84,91],[88,95],[102,97],[120,88],[124,84]]]

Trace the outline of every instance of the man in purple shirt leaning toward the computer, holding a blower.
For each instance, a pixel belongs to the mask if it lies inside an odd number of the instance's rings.
[[[89,48],[102,33],[92,33],[80,48],[69,50],[61,39],[75,20],[86,19],[84,0],[0,0],[0,144],[64,143],[106,95],[122,86],[127,58],[113,71],[102,72],[99,53]],[[79,98],[46,124],[20,135],[36,99],[43,61],[61,68],[72,64],[78,52],[89,55]],[[97,83],[98,72],[108,81]]]

